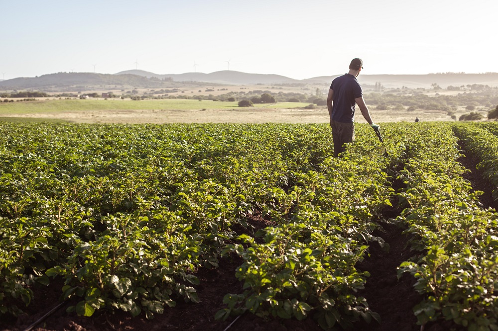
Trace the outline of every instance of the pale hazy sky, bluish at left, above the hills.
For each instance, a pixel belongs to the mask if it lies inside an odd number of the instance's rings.
[[[355,57],[364,75],[498,72],[497,12],[497,0],[0,0],[0,79],[135,68],[305,79]]]

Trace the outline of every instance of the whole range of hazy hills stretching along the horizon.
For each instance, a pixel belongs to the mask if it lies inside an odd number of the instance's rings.
[[[0,90],[40,90],[61,92],[75,90],[105,90],[112,88],[171,88],[185,84],[324,84],[328,85],[340,75],[321,76],[306,80],[295,80],[280,75],[248,74],[237,71],[218,71],[211,74],[185,73],[158,75],[142,70],[129,70],[118,74],[57,73],[34,78],[15,78],[0,81]],[[360,75],[362,84],[381,83],[388,88],[407,86],[410,88],[431,88],[437,83],[442,88],[449,85],[461,86],[484,84],[498,86],[498,73],[488,74],[428,74],[428,75]]]

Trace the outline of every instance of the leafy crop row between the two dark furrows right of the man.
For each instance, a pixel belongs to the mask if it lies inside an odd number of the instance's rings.
[[[419,128],[399,176],[406,188],[398,194],[405,207],[398,221],[420,251],[399,268],[424,294],[414,313],[420,324],[445,319],[469,330],[498,330],[497,214],[480,206],[482,192],[472,192],[462,177],[452,127]],[[467,130],[455,127],[457,135]]]

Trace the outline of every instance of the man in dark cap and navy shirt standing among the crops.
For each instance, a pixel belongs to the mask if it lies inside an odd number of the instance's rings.
[[[337,77],[332,81],[327,96],[327,108],[329,109],[330,127],[332,128],[332,140],[334,142],[334,156],[344,152],[343,145],[355,140],[355,108],[360,107],[363,117],[367,120],[373,130],[378,131],[380,126],[374,124],[370,117],[369,108],[363,99],[363,89],[357,81],[358,75],[363,69],[361,59],[353,59],[349,65],[349,73]]]

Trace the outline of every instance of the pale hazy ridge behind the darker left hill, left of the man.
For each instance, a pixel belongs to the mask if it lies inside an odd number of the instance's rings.
[[[117,73],[116,75],[138,75],[147,78],[172,79],[174,82],[205,82],[217,84],[279,84],[279,83],[302,83],[285,76],[279,75],[263,75],[263,74],[248,74],[238,71],[217,71],[211,74],[203,73],[185,73],[185,74],[169,74],[157,75],[154,73],[142,70],[128,70]]]

